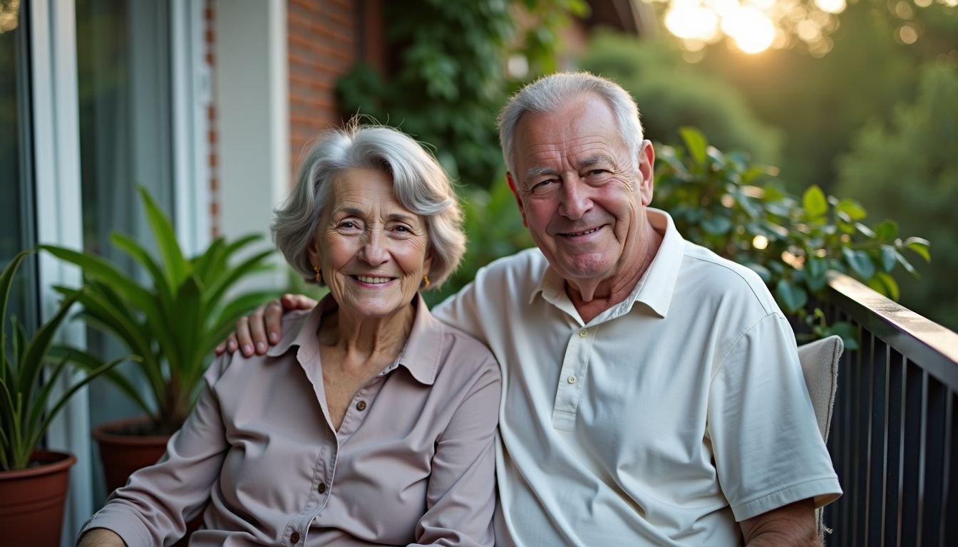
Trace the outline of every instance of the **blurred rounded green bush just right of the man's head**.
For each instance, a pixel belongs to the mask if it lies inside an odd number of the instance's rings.
[[[694,125],[719,148],[779,162],[779,131],[759,120],[733,86],[684,62],[673,43],[600,32],[579,66],[617,81],[632,94],[648,138],[676,142],[680,126]]]

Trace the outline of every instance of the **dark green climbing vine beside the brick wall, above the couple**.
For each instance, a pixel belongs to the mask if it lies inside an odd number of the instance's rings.
[[[355,64],[336,84],[340,110],[401,128],[436,147],[453,178],[487,186],[502,171],[495,114],[513,86],[506,59],[521,53],[531,77],[554,71],[559,30],[587,9],[584,0],[385,2],[398,58],[386,75]]]

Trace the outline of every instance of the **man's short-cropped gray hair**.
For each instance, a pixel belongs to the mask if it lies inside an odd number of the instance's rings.
[[[633,169],[642,147],[642,123],[639,108],[621,85],[587,72],[561,72],[542,77],[520,89],[499,113],[499,144],[506,169],[516,176],[513,138],[515,128],[526,113],[547,114],[566,101],[584,93],[598,95],[612,109],[619,135],[630,152]]]

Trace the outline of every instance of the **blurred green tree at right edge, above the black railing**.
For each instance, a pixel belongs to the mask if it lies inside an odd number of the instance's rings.
[[[919,264],[922,283],[901,301],[958,330],[958,63],[925,65],[918,99],[862,128],[839,165],[840,192],[935,241],[935,267]]]

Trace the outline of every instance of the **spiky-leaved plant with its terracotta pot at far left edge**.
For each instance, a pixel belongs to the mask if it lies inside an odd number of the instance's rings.
[[[77,459],[66,452],[37,449],[37,445],[67,400],[125,357],[104,364],[80,350],[59,348],[57,353],[62,356],[43,374],[44,365],[52,360],[54,333],[82,289],[65,298],[57,313],[29,339],[23,326],[11,317],[8,346],[7,303],[13,275],[29,254],[17,254],[0,273],[0,530],[4,544],[55,546],[60,539],[70,467]],[[57,380],[80,361],[89,367],[86,376],[55,396]]]

